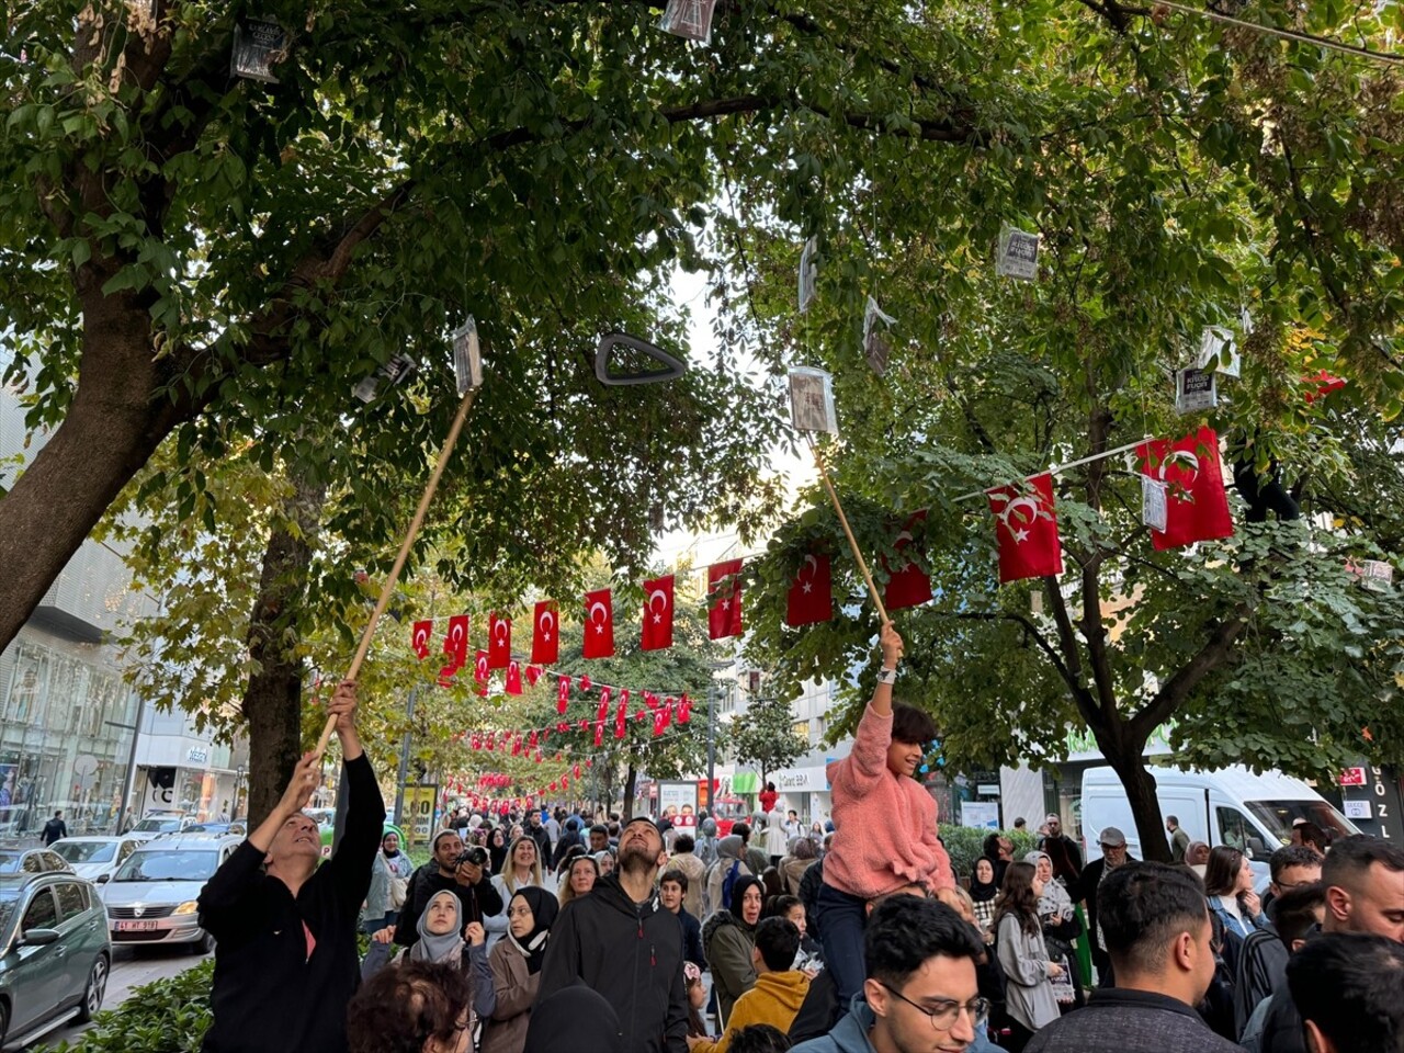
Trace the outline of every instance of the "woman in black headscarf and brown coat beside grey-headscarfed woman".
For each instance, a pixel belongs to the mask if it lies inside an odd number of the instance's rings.
[[[519,889],[507,904],[507,938],[489,955],[496,1008],[483,1025],[482,1053],[522,1053],[557,911],[545,889]]]

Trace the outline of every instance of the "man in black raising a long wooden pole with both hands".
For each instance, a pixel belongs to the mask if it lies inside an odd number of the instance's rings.
[[[357,914],[371,886],[385,802],[355,730],[355,682],[327,712],[350,789],[345,834],[322,865],[322,834],[302,813],[322,758],[305,754],[282,799],[199,893],[199,924],[218,941],[204,1053],[345,1053],[355,993]]]

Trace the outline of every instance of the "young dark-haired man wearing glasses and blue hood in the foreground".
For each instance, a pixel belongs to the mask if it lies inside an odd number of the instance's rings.
[[[868,979],[847,1016],[790,1053],[981,1053],[990,1004],[979,997],[974,929],[951,907],[893,896],[863,934]]]

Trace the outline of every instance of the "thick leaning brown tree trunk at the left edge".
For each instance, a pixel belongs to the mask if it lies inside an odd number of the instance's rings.
[[[83,298],[83,354],[73,403],[24,475],[0,497],[0,650],[161,439],[190,413],[157,396],[150,316],[131,293]]]

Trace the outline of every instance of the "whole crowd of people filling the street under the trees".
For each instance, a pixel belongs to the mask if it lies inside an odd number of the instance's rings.
[[[771,810],[726,837],[705,813],[456,814],[418,869],[383,834],[331,702],[350,810],[334,855],[278,809],[199,899],[216,936],[208,1053],[1404,1053],[1404,849],[1314,828],[1271,859],[1191,841],[1098,858],[1049,816],[1014,858],[993,834],[955,873],[917,781],[935,736],[894,702],[900,636],[848,757],[833,830]],[[358,953],[357,927],[369,936]],[[1078,945],[1094,969],[1080,965]]]

